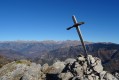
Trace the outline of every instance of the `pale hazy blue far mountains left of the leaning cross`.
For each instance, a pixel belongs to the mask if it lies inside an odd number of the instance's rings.
[[[79,44],[80,44],[79,41],[70,41],[70,40],[68,41],[5,41],[5,42],[0,42],[0,50],[6,50],[6,51],[10,50],[16,52],[16,55],[18,54],[18,56],[23,55],[26,57],[35,58],[37,55],[44,52],[48,52],[63,47],[76,46]]]

